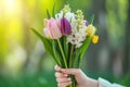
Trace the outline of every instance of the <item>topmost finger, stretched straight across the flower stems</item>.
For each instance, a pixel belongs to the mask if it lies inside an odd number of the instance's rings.
[[[81,74],[81,70],[80,69],[61,69],[62,73],[66,73],[66,74],[72,74],[72,75],[79,75]]]

